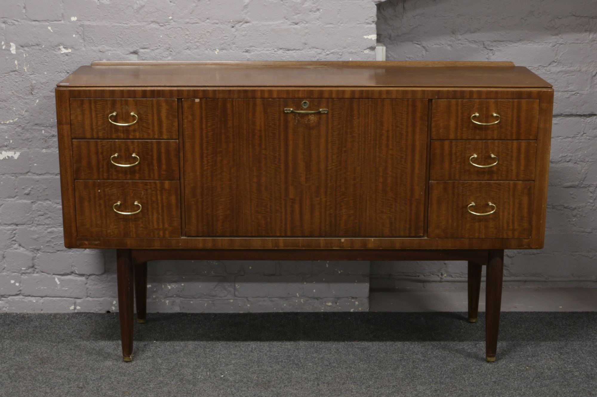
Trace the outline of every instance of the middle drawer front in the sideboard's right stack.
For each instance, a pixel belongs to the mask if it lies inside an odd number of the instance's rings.
[[[429,179],[534,180],[536,155],[537,141],[432,141]]]

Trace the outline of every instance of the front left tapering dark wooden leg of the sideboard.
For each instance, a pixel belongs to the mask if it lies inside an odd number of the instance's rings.
[[[133,260],[131,250],[116,250],[118,267],[118,307],[120,310],[120,335],[122,359],[133,360]]]

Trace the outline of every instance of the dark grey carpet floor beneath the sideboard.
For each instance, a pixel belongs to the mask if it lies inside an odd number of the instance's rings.
[[[0,315],[0,396],[596,396],[596,312]]]

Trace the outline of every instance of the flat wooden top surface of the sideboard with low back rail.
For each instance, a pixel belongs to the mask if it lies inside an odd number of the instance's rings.
[[[58,87],[551,88],[512,62],[94,61]]]

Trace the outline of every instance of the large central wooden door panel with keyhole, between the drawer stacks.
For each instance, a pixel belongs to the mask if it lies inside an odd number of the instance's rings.
[[[427,100],[183,100],[187,236],[421,236]]]

